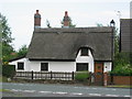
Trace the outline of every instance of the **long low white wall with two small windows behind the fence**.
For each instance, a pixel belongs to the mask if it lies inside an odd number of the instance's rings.
[[[24,63],[24,69],[18,69],[18,62]],[[76,63],[75,62],[34,62],[29,61],[28,58],[18,59],[9,63],[10,65],[15,65],[16,72],[41,72],[41,63],[48,63],[48,72],[75,72]]]

